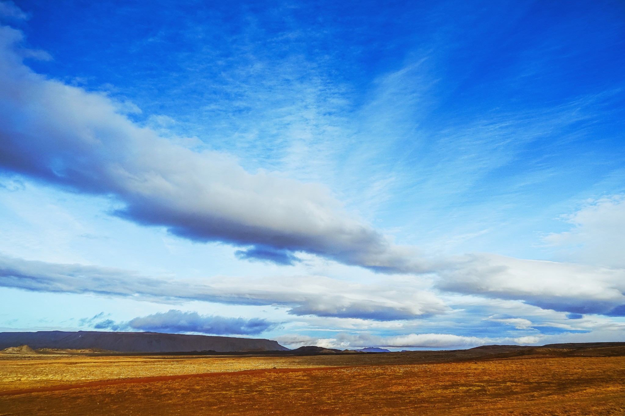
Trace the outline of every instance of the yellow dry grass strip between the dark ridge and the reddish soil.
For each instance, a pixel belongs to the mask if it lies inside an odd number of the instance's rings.
[[[474,358],[480,351],[328,356],[85,356],[0,354],[0,392],[95,380],[256,369],[417,364]]]

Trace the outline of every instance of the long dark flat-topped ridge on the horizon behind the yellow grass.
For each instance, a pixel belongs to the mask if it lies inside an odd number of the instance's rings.
[[[0,332],[0,349],[103,349],[119,352],[288,351],[276,341],[256,338],[161,334],[159,332]]]

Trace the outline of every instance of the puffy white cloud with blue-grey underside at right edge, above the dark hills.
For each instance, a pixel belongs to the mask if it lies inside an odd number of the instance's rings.
[[[444,291],[574,314],[625,316],[625,269],[472,254],[439,275],[436,287]]]

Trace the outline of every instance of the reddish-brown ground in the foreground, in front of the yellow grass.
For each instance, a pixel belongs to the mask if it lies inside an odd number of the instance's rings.
[[[0,415],[622,415],[625,357],[253,370],[73,387],[4,395]]]

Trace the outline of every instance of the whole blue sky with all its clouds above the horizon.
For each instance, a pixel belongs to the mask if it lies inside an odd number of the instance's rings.
[[[621,2],[0,14],[3,331],[624,338]]]

